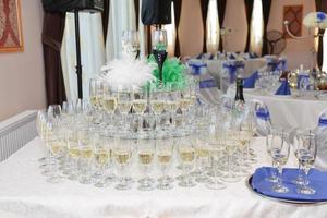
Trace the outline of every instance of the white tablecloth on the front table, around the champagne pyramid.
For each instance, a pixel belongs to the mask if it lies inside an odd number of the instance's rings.
[[[267,166],[265,138],[254,138],[258,156],[254,167]],[[263,198],[250,192],[245,179],[213,191],[199,184],[192,189],[141,192],[98,189],[73,181],[50,184],[40,174],[37,159],[44,155],[38,137],[0,164],[0,217],[2,218],[241,218],[326,217],[327,206],[300,206]],[[296,166],[291,155],[288,166]],[[253,169],[254,170],[254,169]],[[177,174],[177,173],[175,173]]]

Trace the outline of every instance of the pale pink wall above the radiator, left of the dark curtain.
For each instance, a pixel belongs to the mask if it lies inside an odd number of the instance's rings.
[[[21,0],[24,52],[0,53],[0,121],[46,105],[39,0]]]

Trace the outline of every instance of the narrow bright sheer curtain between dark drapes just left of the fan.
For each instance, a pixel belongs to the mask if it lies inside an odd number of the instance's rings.
[[[262,56],[264,36],[264,14],[262,0],[254,0],[250,29],[250,51]]]

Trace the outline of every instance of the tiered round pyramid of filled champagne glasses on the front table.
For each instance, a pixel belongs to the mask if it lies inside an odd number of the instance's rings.
[[[173,85],[166,84],[168,90],[97,87],[90,100],[38,112],[37,129],[48,152],[39,159],[40,172],[48,182],[219,190],[246,177],[256,161],[250,117],[239,123],[234,111],[195,100],[191,90]]]

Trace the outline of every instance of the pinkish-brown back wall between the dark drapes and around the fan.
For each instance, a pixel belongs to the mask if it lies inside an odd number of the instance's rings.
[[[230,28],[231,34],[226,36],[226,51],[242,51],[246,44],[247,23],[243,0],[228,0],[226,7],[225,28]],[[272,0],[270,17],[267,29],[282,31],[283,5],[303,4],[303,16],[315,11],[314,0]],[[302,34],[307,34],[303,26]],[[199,0],[185,0],[182,3],[179,37],[182,56],[195,56],[203,48],[203,23]],[[282,56],[289,60],[289,68],[299,68],[303,63],[305,68],[312,65],[313,39],[287,39],[287,47]]]

